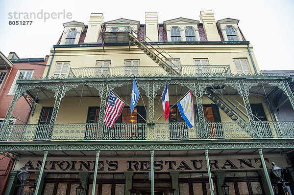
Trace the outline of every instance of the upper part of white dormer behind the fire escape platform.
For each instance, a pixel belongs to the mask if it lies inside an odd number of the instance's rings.
[[[123,18],[114,21],[104,22],[104,25],[106,27],[105,31],[108,32],[134,31],[135,33],[138,33],[138,30],[140,30],[139,21],[133,21]]]

